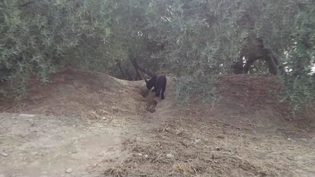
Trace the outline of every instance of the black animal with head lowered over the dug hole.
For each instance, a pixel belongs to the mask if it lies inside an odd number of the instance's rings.
[[[150,80],[145,79],[144,81],[146,81],[146,88],[149,90],[154,87],[152,92],[155,91],[156,97],[160,96],[162,90],[161,100],[164,99],[164,91],[166,89],[166,77],[164,75],[154,75]]]

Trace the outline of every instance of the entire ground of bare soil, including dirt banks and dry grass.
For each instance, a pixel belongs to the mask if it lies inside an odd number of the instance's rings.
[[[219,102],[188,106],[172,77],[165,100],[101,73],[51,80],[0,102],[0,177],[315,176],[315,111],[292,117],[274,77],[222,76]]]

